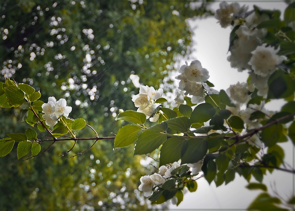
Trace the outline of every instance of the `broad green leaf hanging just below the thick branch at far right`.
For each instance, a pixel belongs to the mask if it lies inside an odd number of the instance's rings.
[[[282,129],[282,125],[271,125],[268,128],[264,128],[260,134],[261,141],[267,147],[275,145],[280,140]]]

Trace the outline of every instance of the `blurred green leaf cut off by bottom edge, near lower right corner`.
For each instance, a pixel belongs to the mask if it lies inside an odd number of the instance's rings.
[[[249,205],[248,210],[260,210],[260,211],[288,211],[278,207],[275,204],[281,204],[281,200],[276,197],[271,197],[268,193],[260,193],[258,197]]]

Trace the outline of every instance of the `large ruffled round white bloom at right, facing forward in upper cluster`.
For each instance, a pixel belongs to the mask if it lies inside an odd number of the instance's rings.
[[[274,47],[266,47],[266,43],[264,43],[252,51],[253,56],[248,64],[252,66],[255,74],[266,77],[276,70],[276,65],[286,59],[286,56],[278,56],[276,54],[278,51],[279,48],[275,50]]]

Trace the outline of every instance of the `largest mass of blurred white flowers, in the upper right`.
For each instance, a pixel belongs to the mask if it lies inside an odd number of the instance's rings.
[[[238,38],[233,41],[230,47],[231,55],[227,60],[230,61],[231,67],[237,68],[239,72],[250,70],[251,83],[254,86],[249,90],[254,91],[254,88],[257,88],[257,94],[266,97],[269,76],[276,70],[276,66],[286,59],[285,56],[277,55],[279,48],[275,50],[266,43],[262,44],[261,39],[266,36],[267,30],[257,29],[256,26],[269,20],[269,16],[259,14],[257,11],[250,11],[247,16],[248,8],[240,7],[238,3],[229,5],[221,2],[219,6],[220,9],[216,10],[215,18],[219,20],[223,28],[232,24],[232,21],[234,21],[233,26],[243,24],[235,31]]]

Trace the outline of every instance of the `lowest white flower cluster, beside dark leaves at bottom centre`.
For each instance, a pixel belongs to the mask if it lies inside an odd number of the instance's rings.
[[[189,163],[187,164],[187,166],[190,167],[191,173],[195,175],[201,171],[202,162],[199,161],[197,163]],[[138,189],[144,192],[145,197],[149,197],[153,194],[154,191],[157,191],[157,188],[161,187],[163,183],[165,183],[169,179],[173,179],[173,175],[171,175],[171,172],[178,167],[180,167],[180,164],[178,162],[174,162],[172,163],[172,165],[160,166],[158,173],[154,173],[153,175],[145,175],[140,178],[141,184]],[[177,199],[174,198],[172,200],[172,203],[176,204]]]

